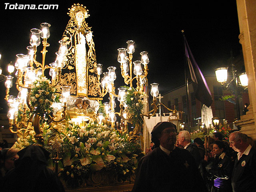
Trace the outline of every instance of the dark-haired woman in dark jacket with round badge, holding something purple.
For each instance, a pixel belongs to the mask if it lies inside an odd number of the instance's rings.
[[[212,152],[215,156],[209,173],[213,179],[212,192],[231,192],[230,177],[232,173],[231,160],[225,154],[226,145],[222,141],[214,141]],[[206,158],[207,159],[207,158]]]

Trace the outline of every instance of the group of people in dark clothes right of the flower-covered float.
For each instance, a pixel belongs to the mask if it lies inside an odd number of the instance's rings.
[[[255,192],[256,149],[252,138],[240,131],[221,133],[205,141],[179,132],[171,122],[154,126],[154,146],[140,159],[133,192]]]

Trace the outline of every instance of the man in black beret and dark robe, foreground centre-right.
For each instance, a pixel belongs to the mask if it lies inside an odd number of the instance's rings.
[[[194,158],[187,150],[175,147],[176,126],[160,122],[151,135],[156,148],[140,159],[132,191],[206,191]]]

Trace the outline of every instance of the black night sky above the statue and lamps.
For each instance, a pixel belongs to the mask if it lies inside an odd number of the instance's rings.
[[[33,4],[32,1],[5,1],[10,4]],[[5,69],[16,54],[27,54],[30,29],[39,28],[48,22],[50,38],[46,64],[54,62],[58,41],[68,24],[68,8],[74,3],[84,4],[90,17],[86,19],[92,27],[97,62],[103,64],[103,71],[109,66],[117,68],[118,48],[126,48],[127,40],[136,43],[133,61],[140,60],[140,52],[149,52],[149,84],[159,83],[160,93],[184,84],[184,52],[181,30],[203,74],[214,74],[220,66],[226,66],[230,50],[234,56],[242,50],[239,44],[238,16],[235,0],[226,1],[40,1],[36,4],[58,4],[58,10],[9,10],[4,2],[0,4],[0,66]],[[41,40],[42,41],[42,40]],[[41,62],[38,47],[37,60]],[[3,72],[5,73],[5,72]],[[116,87],[124,85],[116,80]],[[3,82],[2,92],[5,92]],[[14,89],[14,88],[13,88]],[[11,90],[12,93],[13,90]],[[3,104],[1,104],[1,107]]]

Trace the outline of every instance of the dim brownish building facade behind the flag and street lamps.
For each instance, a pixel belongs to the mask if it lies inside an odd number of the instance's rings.
[[[210,92],[212,94],[212,114],[213,117],[218,117],[220,119],[228,120],[228,124],[232,127],[234,120],[238,117],[236,111],[236,104],[228,101],[220,100],[222,96],[231,95],[229,90],[224,90],[220,83],[217,82],[216,76],[214,75],[206,75],[205,80],[208,84]],[[199,124],[201,123],[201,109],[202,103],[196,99],[195,93],[193,90],[192,83],[188,84],[188,103],[189,103],[189,114],[190,114],[190,124],[191,131],[197,130]],[[162,98],[162,103],[166,105],[168,108],[183,111],[183,119],[185,122],[185,127],[188,127],[188,108],[186,102],[186,86],[180,86],[170,92],[162,94],[164,98]],[[244,104],[249,103],[248,93],[247,91],[242,92],[239,98],[240,105],[240,114],[242,115],[242,110],[244,109]],[[165,108],[162,109],[163,112],[168,112]]]

